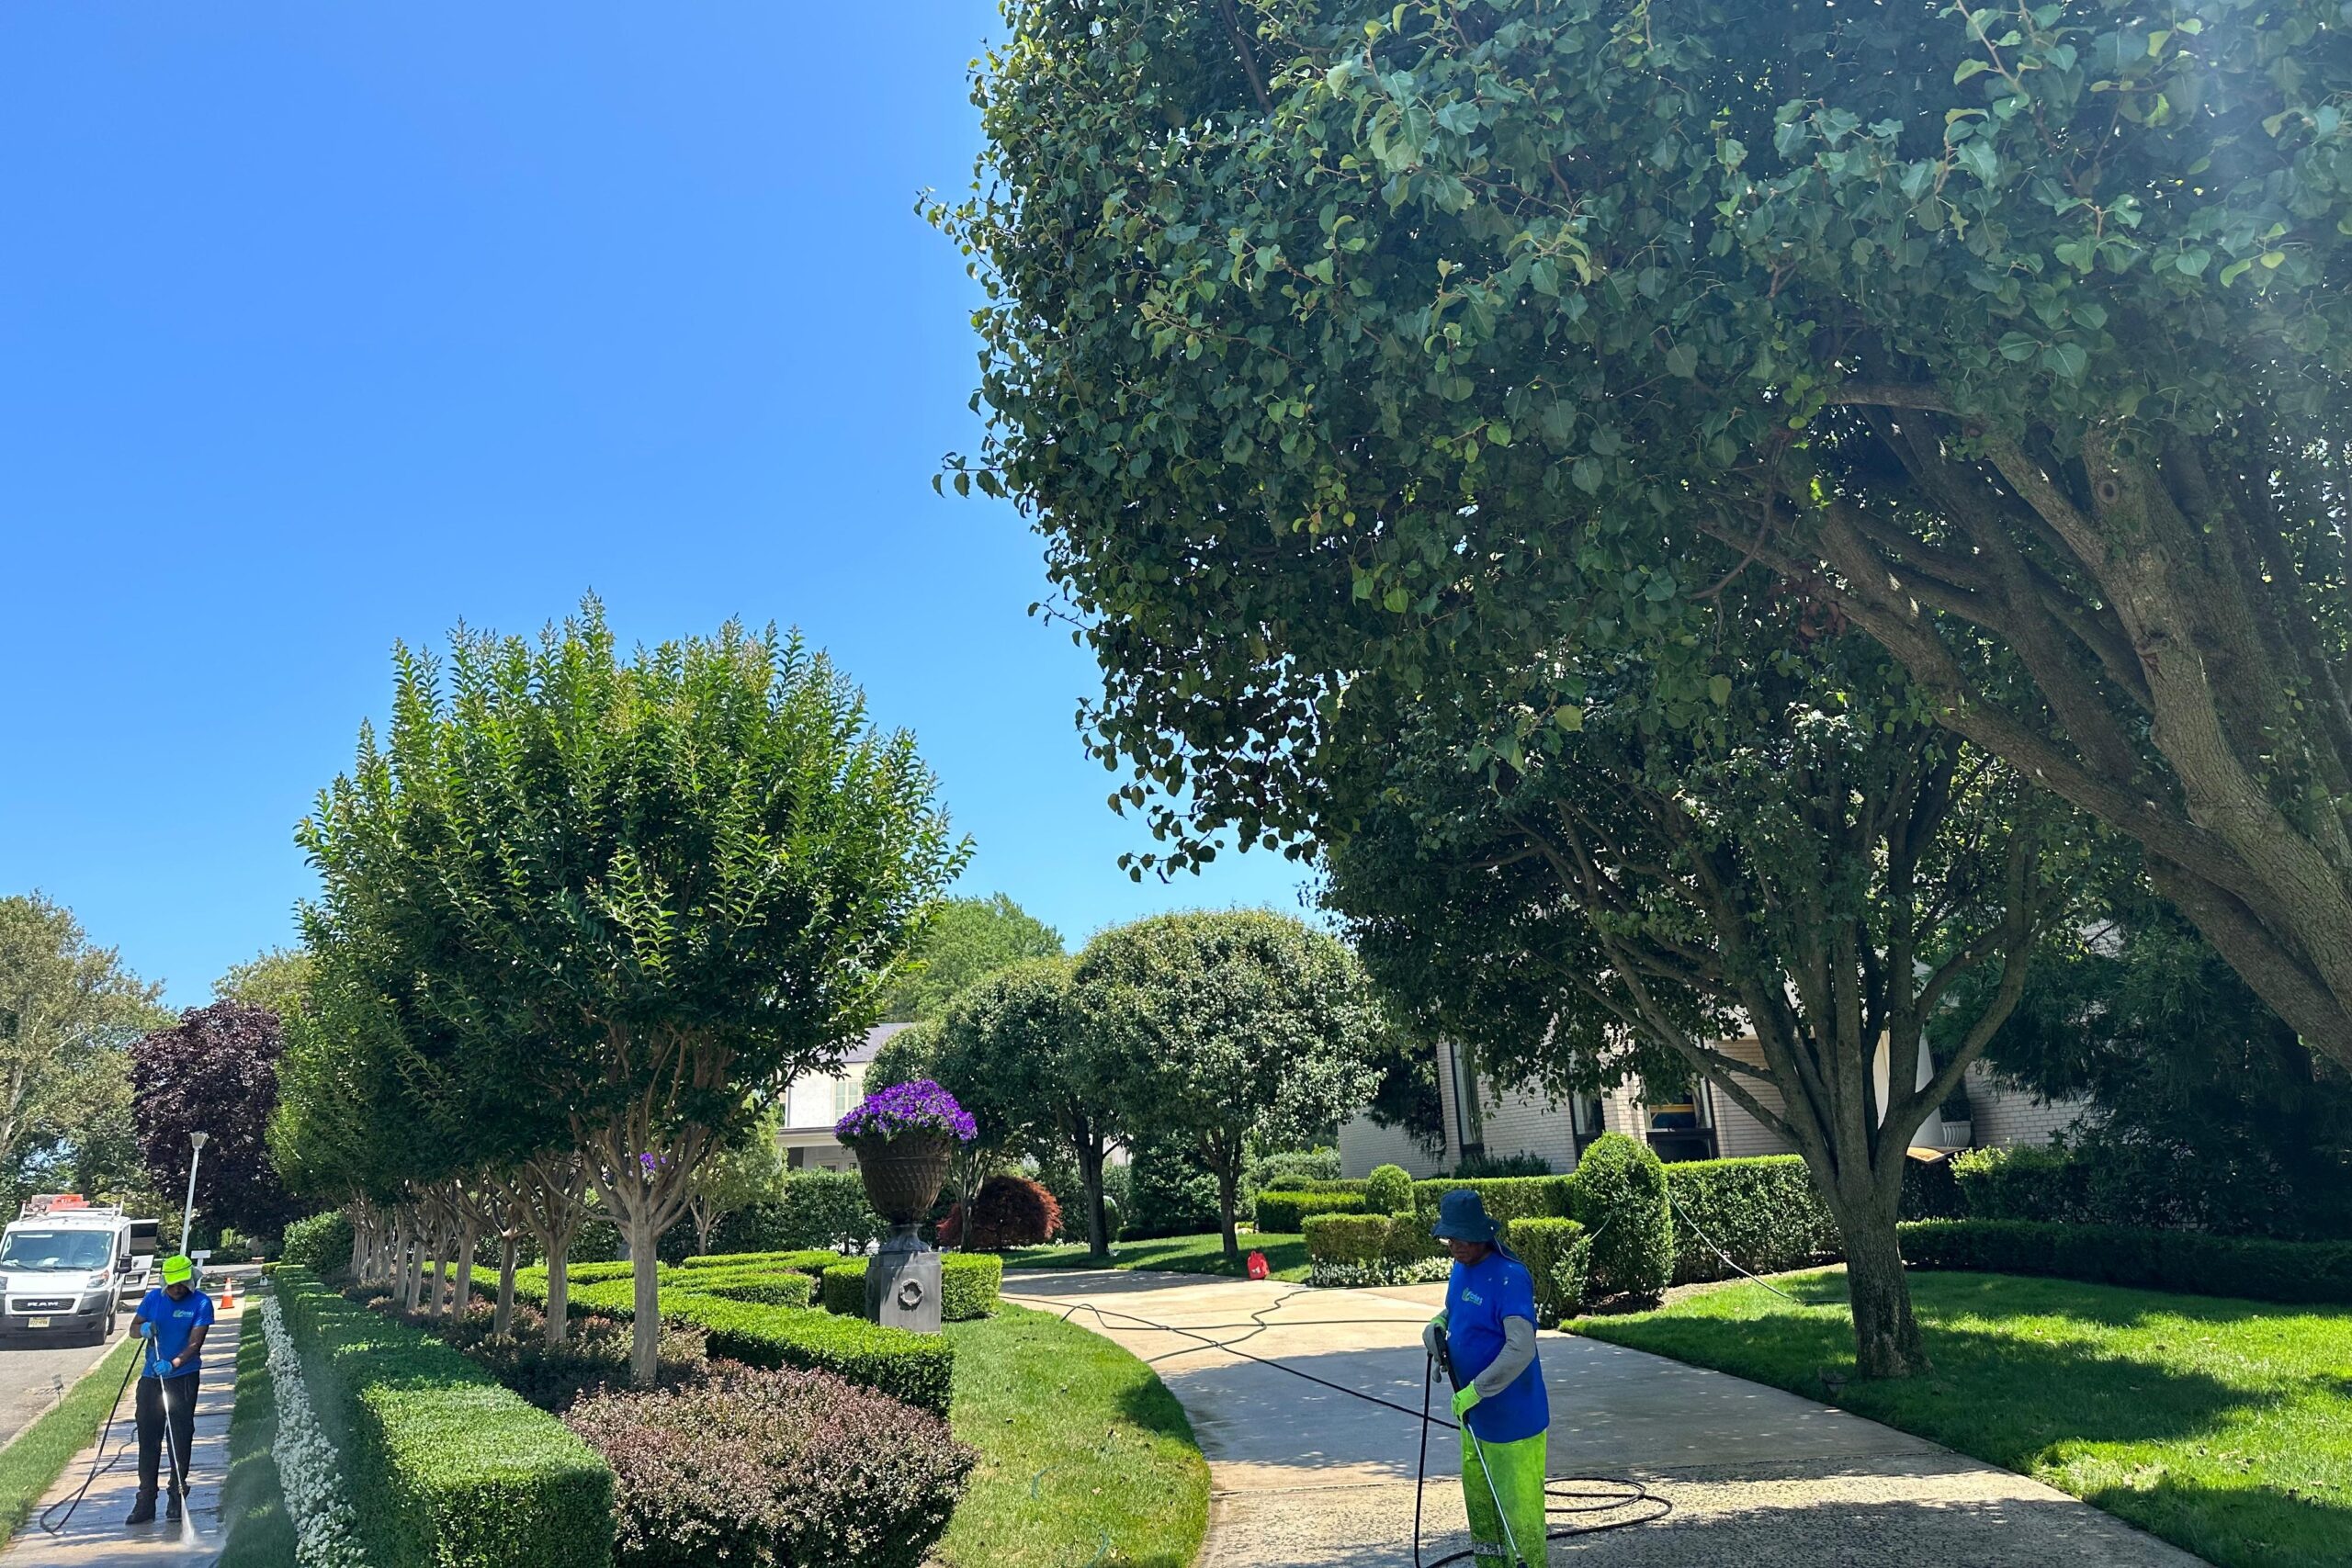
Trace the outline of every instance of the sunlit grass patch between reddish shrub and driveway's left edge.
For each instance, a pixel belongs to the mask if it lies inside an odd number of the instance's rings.
[[[1110,1340],[1000,1307],[948,1324],[955,1436],[981,1450],[948,1568],[1188,1568],[1209,1465],[1176,1396]]]

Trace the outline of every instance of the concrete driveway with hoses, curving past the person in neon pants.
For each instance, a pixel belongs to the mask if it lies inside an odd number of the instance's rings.
[[[1421,1326],[1437,1312],[1437,1286],[1303,1291],[1200,1274],[1021,1269],[1007,1274],[1004,1295],[1073,1314],[1155,1363],[1209,1455],[1200,1568],[1416,1561]],[[1550,1474],[1635,1483],[1583,1488],[1590,1512],[1555,1516],[1552,1528],[1625,1528],[1555,1542],[1555,1563],[2199,1561],[2037,1481],[1780,1389],[1576,1335],[1545,1333],[1541,1354],[1552,1396]],[[1442,1394],[1432,1403],[1442,1415]],[[1470,1544],[1454,1472],[1456,1439],[1432,1427],[1421,1563]],[[1656,1519],[1661,1507],[1642,1502],[1642,1488],[1672,1512]]]

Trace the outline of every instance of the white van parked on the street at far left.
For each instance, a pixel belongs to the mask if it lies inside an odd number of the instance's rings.
[[[106,1342],[155,1267],[155,1220],[73,1194],[28,1199],[0,1229],[0,1342]]]

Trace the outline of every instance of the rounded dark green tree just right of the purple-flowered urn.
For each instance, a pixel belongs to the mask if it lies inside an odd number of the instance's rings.
[[[1117,1143],[1117,1110],[1098,1034],[1070,992],[1070,959],[1007,964],[967,985],[941,1020],[938,1081],[964,1110],[967,1084],[990,1084],[1021,1143],[1035,1154],[1068,1154],[1087,1190],[1087,1248],[1110,1251],[1103,1164]]]

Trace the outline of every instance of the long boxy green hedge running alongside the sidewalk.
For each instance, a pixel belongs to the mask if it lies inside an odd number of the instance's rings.
[[[376,1568],[607,1568],[612,1469],[442,1340],[273,1274]]]

